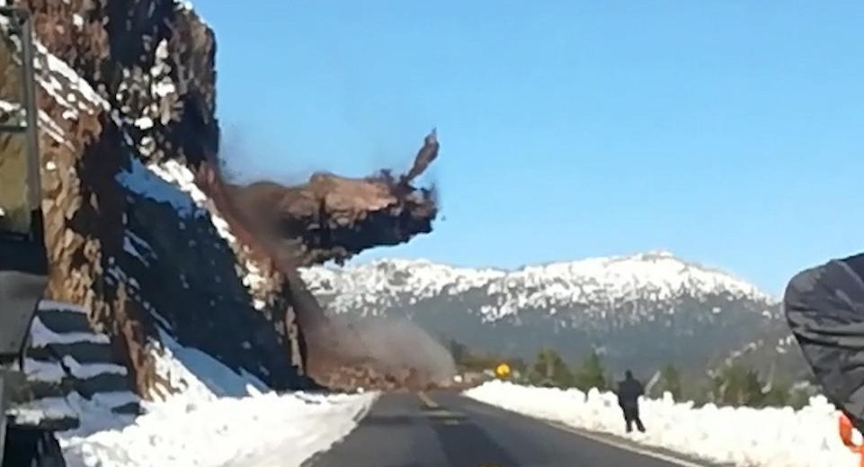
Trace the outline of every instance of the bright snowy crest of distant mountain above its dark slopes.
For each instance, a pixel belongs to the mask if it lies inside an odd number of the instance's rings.
[[[304,269],[301,274],[313,292],[340,295],[335,301],[334,311],[337,312],[357,306],[358,301],[370,305],[387,303],[386,298],[376,303],[374,298],[370,299],[371,293],[411,292],[427,297],[430,293],[448,290],[458,293],[487,287],[493,294],[512,292],[520,285],[546,292],[548,301],[534,303],[533,308],[548,307],[550,302],[590,301],[592,295],[602,295],[603,292],[611,298],[626,300],[639,291],[654,291],[664,297],[681,292],[729,292],[735,296],[749,295],[769,305],[779,303],[770,293],[733,274],[683,260],[668,251],[526,265],[515,270],[452,266],[427,259],[379,258],[345,267],[314,266]],[[405,277],[405,274],[411,274],[414,280],[400,282],[398,278]],[[537,301],[541,298],[535,293],[527,297],[528,301],[517,300],[514,305],[524,307],[531,305],[531,299]],[[503,314],[510,311],[503,310]]]

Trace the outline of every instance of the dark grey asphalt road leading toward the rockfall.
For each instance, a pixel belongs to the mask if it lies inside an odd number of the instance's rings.
[[[312,467],[681,467],[457,394],[388,394]],[[598,441],[599,439],[599,441]]]

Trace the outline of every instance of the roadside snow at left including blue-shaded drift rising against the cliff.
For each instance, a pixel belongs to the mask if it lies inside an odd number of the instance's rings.
[[[82,427],[61,434],[69,467],[299,465],[346,436],[377,397],[262,392],[253,377],[163,339],[158,371],[184,391],[134,420],[85,410]]]

